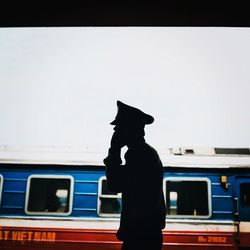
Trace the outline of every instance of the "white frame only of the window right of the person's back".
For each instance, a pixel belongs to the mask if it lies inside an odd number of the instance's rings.
[[[208,195],[208,215],[166,215],[167,219],[171,218],[186,218],[186,219],[208,219],[212,216],[212,193],[211,193],[211,180],[207,177],[165,177],[163,179],[163,193],[165,204],[167,205],[167,181],[205,181],[207,183]]]

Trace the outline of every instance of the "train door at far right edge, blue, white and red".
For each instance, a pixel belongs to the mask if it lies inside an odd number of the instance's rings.
[[[235,191],[239,246],[250,249],[250,177],[237,177]]]

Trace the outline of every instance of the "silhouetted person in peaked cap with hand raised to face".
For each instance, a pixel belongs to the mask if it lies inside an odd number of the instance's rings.
[[[118,112],[111,147],[104,164],[108,187],[122,192],[122,212],[117,238],[122,250],[159,250],[166,208],[162,191],[161,160],[144,139],[144,127],[154,118],[141,110],[117,101]],[[121,148],[127,146],[125,165]]]

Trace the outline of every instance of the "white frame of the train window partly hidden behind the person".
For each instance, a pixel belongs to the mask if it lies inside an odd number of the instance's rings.
[[[117,193],[117,195],[113,194],[102,194],[102,181],[107,180],[106,176],[102,176],[98,180],[98,196],[97,196],[97,214],[100,217],[115,217],[119,218],[120,214],[108,214],[108,213],[102,213],[100,211],[101,206],[101,199],[100,198],[122,198],[121,193]]]

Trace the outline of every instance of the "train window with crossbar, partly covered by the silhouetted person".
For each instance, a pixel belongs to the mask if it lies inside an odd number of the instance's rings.
[[[98,190],[98,214],[100,216],[118,217],[120,216],[121,208],[121,194],[111,192],[108,189],[107,179],[101,177]]]

